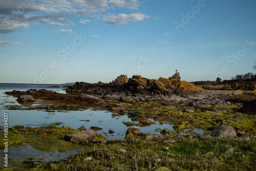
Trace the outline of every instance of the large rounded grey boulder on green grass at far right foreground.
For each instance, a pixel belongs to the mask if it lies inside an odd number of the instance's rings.
[[[216,136],[220,138],[227,138],[227,137],[236,138],[237,133],[236,133],[236,130],[234,130],[231,126],[221,124],[217,126],[216,129],[214,129],[214,131],[212,131],[212,136]]]

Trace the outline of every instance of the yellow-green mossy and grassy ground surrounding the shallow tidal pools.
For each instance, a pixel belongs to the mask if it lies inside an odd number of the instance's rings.
[[[39,110],[84,110],[89,107],[95,110],[108,110],[112,106],[97,105],[95,102],[79,101],[73,95],[71,100],[65,97],[40,98],[40,104],[22,107],[23,110],[38,108]],[[39,98],[39,97],[37,97]],[[32,145],[40,151],[65,151],[71,147],[79,147],[78,155],[67,160],[41,162],[36,159],[19,163],[18,167],[0,170],[256,170],[256,116],[240,113],[242,105],[200,106],[165,105],[164,102],[118,102],[124,106],[134,119],[152,118],[159,122],[171,121],[175,132],[165,135],[138,134],[128,136],[124,140],[101,141],[104,137],[97,134],[97,140],[88,144],[67,142],[62,140],[66,134],[78,132],[69,127],[56,125],[42,127],[12,127],[9,130],[9,144]],[[11,110],[11,106],[7,106]],[[13,107],[15,110],[16,108]],[[18,109],[16,109],[18,110]],[[232,126],[238,136],[249,135],[250,140],[237,138],[198,139],[193,129],[203,129],[209,134],[219,124]],[[185,129],[191,134],[181,134]],[[168,130],[165,130],[168,132]],[[188,136],[187,136],[188,135]],[[3,134],[0,147],[3,149]],[[166,141],[174,140],[174,141]],[[122,147],[125,152],[115,149]],[[233,153],[226,152],[228,148]],[[91,160],[85,160],[92,157]],[[10,159],[12,161],[12,159]],[[13,161],[15,162],[15,161]]]

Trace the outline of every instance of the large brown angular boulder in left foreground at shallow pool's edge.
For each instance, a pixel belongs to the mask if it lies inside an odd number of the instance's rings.
[[[89,142],[89,140],[93,140],[95,137],[96,135],[94,130],[86,130],[77,133],[67,134],[64,136],[64,140],[73,143],[77,141]]]

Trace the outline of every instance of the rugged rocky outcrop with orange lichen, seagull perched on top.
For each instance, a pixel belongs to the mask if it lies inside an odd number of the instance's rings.
[[[175,73],[172,77],[159,79],[143,78],[140,75],[134,75],[128,78],[126,75],[118,76],[115,81],[110,83],[86,83],[76,82],[74,86],[69,86],[67,92],[107,95],[113,92],[139,93],[143,95],[181,95],[185,93],[196,93],[204,91],[195,87],[193,83],[180,80],[180,73]],[[124,99],[126,100],[126,99]],[[129,100],[129,99],[128,99]],[[130,99],[132,100],[132,99]]]

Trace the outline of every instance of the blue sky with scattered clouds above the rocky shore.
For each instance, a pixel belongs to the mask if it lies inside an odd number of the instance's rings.
[[[1,0],[0,82],[255,74],[255,8],[253,0]]]

